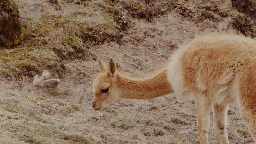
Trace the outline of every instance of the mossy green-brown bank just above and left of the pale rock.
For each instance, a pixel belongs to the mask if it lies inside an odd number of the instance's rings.
[[[17,48],[2,50],[0,61],[3,62],[0,73],[8,78],[20,79],[22,76],[35,76],[46,68],[48,61],[57,61],[56,55],[49,50]]]

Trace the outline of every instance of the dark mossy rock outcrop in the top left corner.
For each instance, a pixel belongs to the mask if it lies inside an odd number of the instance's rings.
[[[18,7],[12,0],[0,0],[0,45],[17,45],[21,34]]]

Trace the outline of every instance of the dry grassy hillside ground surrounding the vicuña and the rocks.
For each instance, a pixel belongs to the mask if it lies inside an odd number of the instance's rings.
[[[0,144],[199,144],[194,101],[120,99],[94,111],[97,57],[143,77],[200,33],[256,36],[253,0],[14,1],[27,39],[0,48]],[[32,86],[43,68],[58,88]],[[230,144],[253,141],[234,106],[227,130]],[[219,144],[212,124],[209,141]]]

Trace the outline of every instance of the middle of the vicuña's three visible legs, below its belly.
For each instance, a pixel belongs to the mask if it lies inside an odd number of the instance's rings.
[[[221,144],[229,144],[226,133],[227,105],[213,105],[214,128]]]

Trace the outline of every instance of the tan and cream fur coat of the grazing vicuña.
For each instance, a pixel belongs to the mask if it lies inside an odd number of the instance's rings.
[[[118,98],[151,99],[173,92],[179,99],[195,99],[200,144],[208,144],[210,109],[221,144],[226,133],[228,105],[237,103],[256,141],[256,41],[228,34],[198,36],[171,55],[167,72],[132,79],[114,72],[114,62],[94,82],[94,104],[103,107]],[[101,68],[102,66],[100,66]],[[112,70],[111,70],[111,67]],[[110,86],[108,94],[99,91]]]

